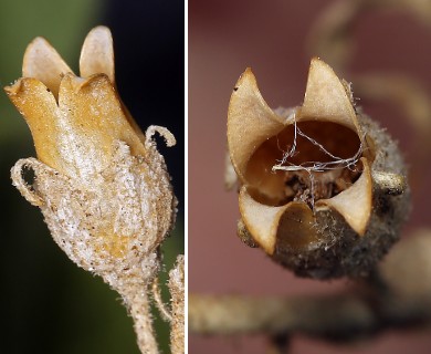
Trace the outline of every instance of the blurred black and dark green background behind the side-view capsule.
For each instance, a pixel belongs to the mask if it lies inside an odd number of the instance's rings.
[[[113,32],[118,91],[135,119],[143,129],[166,126],[177,138],[169,149],[158,139],[180,201],[176,230],[164,247],[169,270],[183,252],[183,1],[1,1],[0,83],[21,76],[25,46],[38,35],[77,73],[81,45],[97,24]],[[10,168],[30,156],[25,122],[0,93],[0,353],[138,353],[118,294],[66,258],[39,209],[11,186]],[[168,327],[160,323],[167,352]]]

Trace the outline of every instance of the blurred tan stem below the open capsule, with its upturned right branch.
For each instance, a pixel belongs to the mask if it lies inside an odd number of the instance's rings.
[[[302,333],[350,341],[431,325],[431,231],[398,243],[361,291],[330,295],[189,295],[189,330],[212,335]]]

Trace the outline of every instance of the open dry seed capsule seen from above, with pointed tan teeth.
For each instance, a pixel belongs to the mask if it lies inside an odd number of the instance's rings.
[[[398,239],[409,207],[398,147],[323,61],[312,60],[304,103],[290,110],[271,110],[248,69],[228,145],[241,239],[295,273],[364,275]]]

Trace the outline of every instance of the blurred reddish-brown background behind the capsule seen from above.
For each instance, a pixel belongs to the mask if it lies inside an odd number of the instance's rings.
[[[234,83],[251,66],[270,106],[301,104],[313,55],[306,49],[307,35],[319,13],[332,2],[189,1],[190,292],[302,294],[336,292],[349,287],[348,280],[296,279],[272,263],[261,250],[242,244],[235,236],[236,194],[223,189],[227,111]],[[402,72],[420,81],[431,96],[431,23],[417,21],[402,11],[378,11],[362,15],[351,30],[356,46],[348,73]],[[430,167],[413,165],[414,134],[407,117],[387,102],[361,100],[359,104],[400,142],[409,164],[428,181]],[[430,225],[431,192],[425,186],[412,186],[413,209],[404,233],[413,227]],[[264,351],[262,336],[189,337],[190,353]],[[294,337],[291,353],[430,352],[431,332],[419,330],[390,331],[354,345]]]

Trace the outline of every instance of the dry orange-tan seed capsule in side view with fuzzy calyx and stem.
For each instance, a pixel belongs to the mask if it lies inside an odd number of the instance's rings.
[[[28,46],[22,71],[6,92],[30,126],[38,159],[19,160],[13,184],[41,208],[69,258],[122,294],[141,352],[157,352],[147,293],[177,200],[153,135],[168,146],[175,137],[159,126],[143,134],[122,104],[107,28],[86,37],[82,77],[41,38]],[[31,185],[25,169],[34,171]]]

